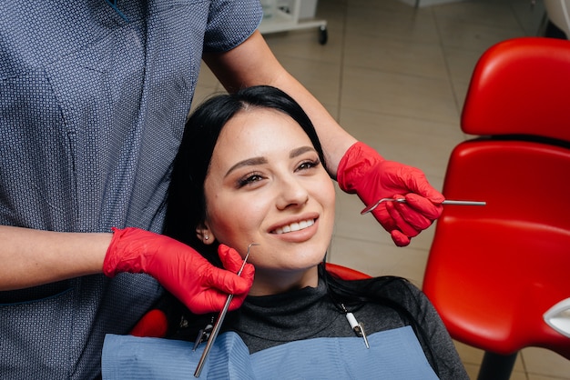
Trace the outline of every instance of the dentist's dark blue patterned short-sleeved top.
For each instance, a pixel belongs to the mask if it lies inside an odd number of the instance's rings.
[[[159,232],[202,51],[239,45],[255,0],[0,2],[0,224]],[[147,275],[0,292],[2,378],[89,378],[106,333],[160,295]]]

